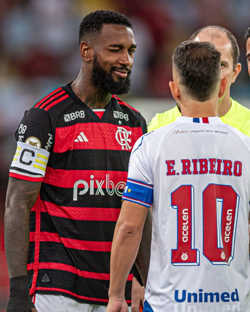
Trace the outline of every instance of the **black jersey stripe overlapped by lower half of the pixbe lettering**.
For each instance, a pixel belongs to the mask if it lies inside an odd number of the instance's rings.
[[[83,188],[78,187],[78,194],[81,190],[83,190]],[[112,196],[108,195],[106,189],[103,188],[102,190],[105,195],[90,195],[89,193],[85,193],[83,195],[78,195],[77,200],[73,201],[73,188],[60,188],[43,182],[40,194],[42,200],[53,202],[58,206],[121,208],[122,197],[115,194]],[[94,188],[94,194],[96,191],[97,189]]]

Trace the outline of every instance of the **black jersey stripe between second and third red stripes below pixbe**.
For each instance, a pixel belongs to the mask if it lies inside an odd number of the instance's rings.
[[[33,261],[29,258],[28,262]],[[63,263],[81,271],[109,273],[110,252],[72,249],[61,243],[41,241],[39,262]]]

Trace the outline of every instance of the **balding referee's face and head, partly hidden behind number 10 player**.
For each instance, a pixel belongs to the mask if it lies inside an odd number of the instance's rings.
[[[230,86],[237,78],[240,70],[238,71],[237,67],[235,69],[233,68],[232,44],[226,33],[216,28],[207,28],[201,31],[194,41],[212,42],[216,50],[221,53],[222,77],[227,77],[227,88],[224,96],[229,96]],[[222,98],[220,100],[222,100]]]

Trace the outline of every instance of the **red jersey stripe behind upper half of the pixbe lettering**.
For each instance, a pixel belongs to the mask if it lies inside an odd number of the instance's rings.
[[[102,170],[63,170],[46,168],[46,174],[43,179],[44,183],[48,183],[61,188],[73,188],[78,180],[84,180],[88,183],[88,187],[92,188],[112,188],[112,182],[116,186],[120,182],[126,183],[128,173],[126,171],[102,171]],[[93,187],[90,185],[93,183]],[[99,185],[98,185],[98,184]],[[118,188],[124,189],[125,185],[118,185]],[[83,188],[83,184],[79,184],[79,188]]]

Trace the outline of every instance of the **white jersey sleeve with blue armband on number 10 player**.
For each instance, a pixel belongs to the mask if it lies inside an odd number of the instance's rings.
[[[122,199],[150,208],[153,202],[153,174],[147,158],[146,144],[143,144],[144,138],[145,135],[137,140],[131,152]]]

